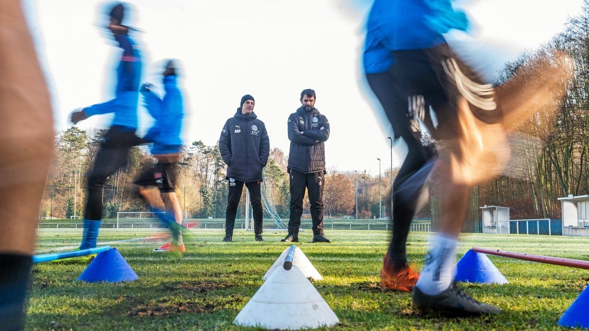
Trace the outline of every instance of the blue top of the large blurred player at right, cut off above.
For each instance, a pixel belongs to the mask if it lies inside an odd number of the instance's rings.
[[[385,72],[395,62],[392,51],[445,44],[444,33],[467,28],[466,15],[451,0],[375,0],[366,24],[364,70]]]

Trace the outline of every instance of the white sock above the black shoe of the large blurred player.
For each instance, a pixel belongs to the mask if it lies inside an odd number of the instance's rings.
[[[447,290],[454,281],[458,241],[443,234],[437,234],[432,241],[416,286],[433,296]]]

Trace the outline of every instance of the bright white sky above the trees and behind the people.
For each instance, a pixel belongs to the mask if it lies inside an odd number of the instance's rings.
[[[254,112],[264,121],[271,147],[289,151],[286,120],[300,91],[317,92],[316,107],[332,126],[326,143],[327,167],[389,168],[389,125],[361,68],[363,25],[369,0],[132,0],[126,24],[141,32],[143,81],[161,85],[161,60],[180,60],[186,126],[184,141],[214,144],[242,95],[256,99]],[[69,127],[75,108],[104,102],[113,95],[114,66],[120,50],[105,33],[104,1],[24,0],[54,105],[55,128]],[[562,30],[580,12],[582,0],[459,1],[476,21],[472,35],[449,36],[464,45],[460,53],[491,79],[501,64],[533,49]],[[140,110],[145,111],[143,108]],[[145,130],[150,117],[141,115]],[[108,115],[78,124],[107,127]],[[393,167],[405,156],[393,150]]]

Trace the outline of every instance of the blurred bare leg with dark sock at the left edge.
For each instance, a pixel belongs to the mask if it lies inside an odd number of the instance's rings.
[[[51,103],[21,4],[0,2],[0,321],[21,328],[52,142]]]

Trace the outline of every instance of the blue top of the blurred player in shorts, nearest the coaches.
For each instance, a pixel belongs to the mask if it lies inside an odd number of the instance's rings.
[[[184,117],[184,102],[176,76],[164,76],[163,100],[153,91],[142,90],[145,107],[155,123],[147,131],[144,140],[153,142],[151,154],[176,153],[182,147],[180,133]]]

